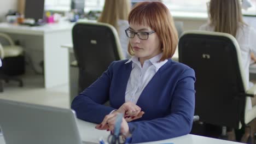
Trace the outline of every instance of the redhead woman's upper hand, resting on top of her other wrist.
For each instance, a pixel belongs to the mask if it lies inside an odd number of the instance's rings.
[[[131,122],[135,119],[141,118],[144,114],[144,112],[141,111],[141,107],[133,104],[131,101],[124,103],[113,113],[123,113],[126,122]]]

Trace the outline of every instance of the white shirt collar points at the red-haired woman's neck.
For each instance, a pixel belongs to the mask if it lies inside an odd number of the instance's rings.
[[[159,62],[161,57],[162,57],[162,53],[159,53],[158,55],[147,60],[147,61],[150,61],[154,65],[156,71],[158,71],[158,69],[160,69],[162,67],[162,65],[164,65],[168,61],[167,59],[165,59],[164,61]],[[137,65],[141,64],[141,62],[138,61],[138,57],[136,57],[136,56],[132,56],[126,63],[130,63],[131,61],[133,63],[136,63]]]

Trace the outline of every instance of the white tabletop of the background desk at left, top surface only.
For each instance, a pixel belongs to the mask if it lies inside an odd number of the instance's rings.
[[[7,22],[0,23],[0,31],[7,33],[19,33],[19,34],[31,34],[31,35],[43,35],[45,33],[56,32],[56,31],[71,31],[74,23],[71,22],[59,22],[49,23],[43,26],[24,26],[24,25],[13,25]]]

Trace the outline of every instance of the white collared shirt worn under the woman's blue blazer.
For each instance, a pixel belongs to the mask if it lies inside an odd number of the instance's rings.
[[[126,62],[132,62],[132,70],[125,91],[125,102],[131,101],[134,104],[137,103],[139,96],[148,85],[148,82],[162,65],[167,62],[167,59],[159,62],[161,57],[162,53],[144,61],[143,67],[141,67],[141,62],[138,61],[138,57],[136,56],[131,57],[129,61]]]

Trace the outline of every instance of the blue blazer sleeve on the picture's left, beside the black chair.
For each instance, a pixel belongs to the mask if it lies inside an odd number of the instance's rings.
[[[109,100],[109,87],[112,79],[112,62],[91,86],[74,98],[71,104],[79,119],[92,123],[101,123],[104,116],[108,115],[113,107],[103,105]]]

